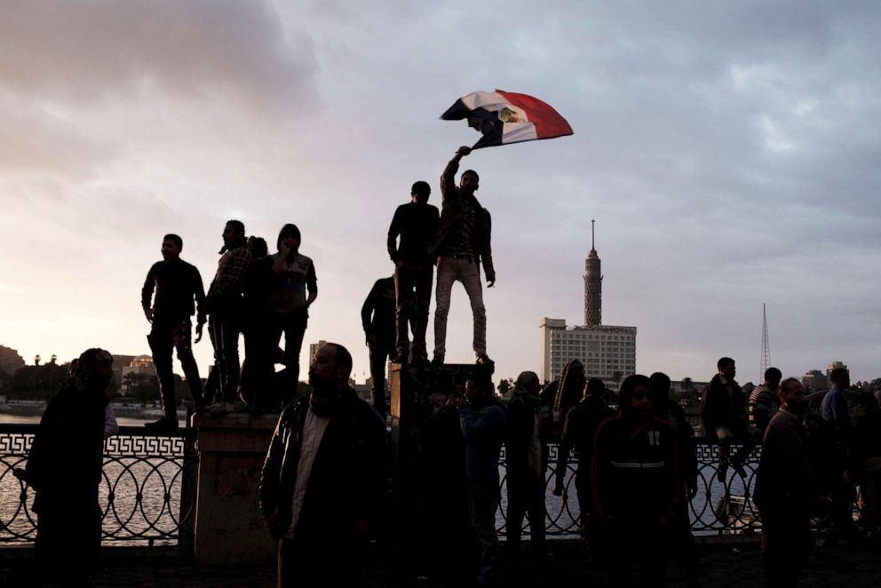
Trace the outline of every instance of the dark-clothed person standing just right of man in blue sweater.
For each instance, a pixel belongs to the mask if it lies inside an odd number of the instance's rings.
[[[536,561],[544,565],[544,460],[542,418],[538,393],[541,387],[534,371],[517,377],[508,401],[505,430],[505,460],[508,483],[507,538],[512,563],[518,561],[523,515],[528,515],[529,536]]]

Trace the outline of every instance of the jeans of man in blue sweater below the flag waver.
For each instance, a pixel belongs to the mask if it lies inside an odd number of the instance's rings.
[[[465,489],[471,527],[477,540],[477,584],[494,584],[498,579],[498,481],[467,481]]]

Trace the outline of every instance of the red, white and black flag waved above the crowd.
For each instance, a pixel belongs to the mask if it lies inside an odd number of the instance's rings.
[[[440,118],[467,118],[468,126],[483,134],[473,149],[572,134],[566,119],[549,104],[512,91],[475,91],[457,99]]]

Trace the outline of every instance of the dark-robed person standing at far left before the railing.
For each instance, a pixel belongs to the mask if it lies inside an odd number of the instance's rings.
[[[25,478],[36,490],[36,558],[46,580],[89,585],[98,565],[107,386],[113,356],[89,349],[36,430]]]

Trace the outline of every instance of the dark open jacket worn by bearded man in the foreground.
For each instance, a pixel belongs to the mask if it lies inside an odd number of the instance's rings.
[[[260,511],[273,514],[273,536],[290,527],[300,441],[309,395],[282,411],[260,474]],[[334,536],[371,525],[385,480],[385,425],[369,404],[346,387],[340,393],[315,456],[299,514],[298,536]]]

